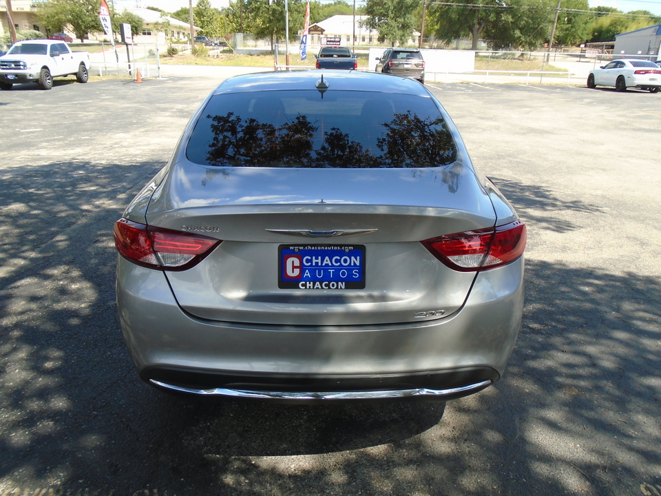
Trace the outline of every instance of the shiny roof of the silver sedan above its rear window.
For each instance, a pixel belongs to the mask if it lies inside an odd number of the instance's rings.
[[[403,93],[430,96],[419,82],[402,76],[347,70],[258,72],[229,78],[213,94],[275,90],[315,90],[324,76],[328,90]]]

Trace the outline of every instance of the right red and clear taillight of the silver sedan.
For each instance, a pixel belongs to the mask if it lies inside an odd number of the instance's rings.
[[[523,255],[526,229],[521,220],[489,229],[449,234],[422,242],[445,265],[462,272],[494,269]]]

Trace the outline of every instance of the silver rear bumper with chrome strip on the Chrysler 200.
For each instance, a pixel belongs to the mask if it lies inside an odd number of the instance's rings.
[[[521,324],[523,258],[480,273],[464,306],[427,322],[286,326],[182,311],[165,276],[118,262],[117,303],[140,377],[198,395],[271,400],[449,399],[505,370]]]

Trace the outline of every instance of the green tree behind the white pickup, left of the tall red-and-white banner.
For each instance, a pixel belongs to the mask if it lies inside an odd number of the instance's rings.
[[[68,25],[81,41],[89,32],[103,31],[98,0],[50,0],[37,5],[37,16],[47,30],[61,31]]]

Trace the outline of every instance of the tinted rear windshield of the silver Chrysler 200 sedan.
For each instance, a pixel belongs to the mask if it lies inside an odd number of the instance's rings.
[[[428,96],[330,90],[213,96],[186,152],[218,167],[440,167],[457,159]]]

